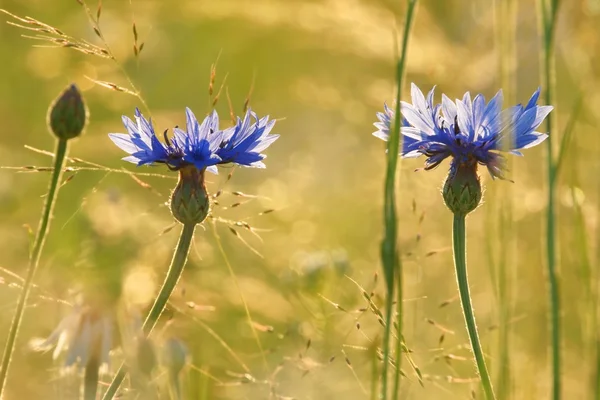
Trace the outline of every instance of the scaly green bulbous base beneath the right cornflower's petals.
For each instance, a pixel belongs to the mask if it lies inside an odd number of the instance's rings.
[[[467,215],[476,209],[482,197],[477,162],[452,160],[442,194],[454,214]]]

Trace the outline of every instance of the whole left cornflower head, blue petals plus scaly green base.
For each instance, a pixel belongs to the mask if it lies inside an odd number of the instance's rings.
[[[235,125],[219,129],[219,116],[212,111],[202,123],[186,108],[185,131],[175,127],[173,137],[164,132],[164,142],[154,132],[152,121],[135,110],[135,123],[123,116],[127,134],[110,133],[111,140],[130,155],[123,160],[137,165],[162,163],[179,171],[179,181],[171,194],[171,212],[184,225],[196,225],[206,219],[210,198],[204,182],[204,171],[218,173],[219,164],[237,164],[264,168],[261,152],[279,135],[271,135],[275,125],[269,117],[258,118],[251,110]],[[252,121],[254,120],[254,122]]]

